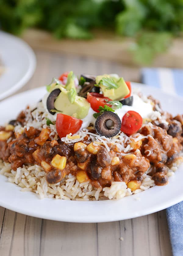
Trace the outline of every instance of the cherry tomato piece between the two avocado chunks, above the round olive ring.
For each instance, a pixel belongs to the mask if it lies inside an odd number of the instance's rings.
[[[91,108],[95,112],[100,112],[98,110],[99,106],[104,107],[104,105],[107,105],[107,106],[111,107],[111,105],[106,102],[106,100],[111,100],[111,99],[109,99],[108,97],[104,97],[103,94],[100,94],[97,92],[89,92],[87,94],[87,100],[90,103]]]

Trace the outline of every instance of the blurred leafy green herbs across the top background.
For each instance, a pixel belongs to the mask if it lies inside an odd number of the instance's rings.
[[[135,38],[135,62],[149,64],[183,31],[183,0],[0,0],[0,28],[47,30],[58,39],[92,40],[92,30]]]

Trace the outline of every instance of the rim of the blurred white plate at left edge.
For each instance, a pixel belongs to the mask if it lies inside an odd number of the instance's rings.
[[[27,56],[29,59],[29,67],[26,71],[26,73],[23,75],[23,77],[15,84],[13,85],[13,87],[9,88],[7,91],[0,93],[0,100],[5,99],[6,97],[12,95],[14,92],[18,91],[20,88],[22,88],[29,80],[30,78],[33,76],[34,71],[36,69],[36,55],[34,53],[34,51],[32,50],[32,48],[28,45],[28,43],[26,43],[25,41],[23,41],[21,38],[14,36],[12,34],[9,34],[7,32],[4,31],[0,31],[0,35],[3,35],[5,37],[9,37],[10,40],[16,40],[27,52]]]

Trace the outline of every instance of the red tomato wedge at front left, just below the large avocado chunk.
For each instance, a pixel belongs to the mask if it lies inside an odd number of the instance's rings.
[[[56,130],[59,137],[66,137],[67,134],[75,134],[82,125],[83,121],[70,115],[64,115],[62,113],[56,116]]]

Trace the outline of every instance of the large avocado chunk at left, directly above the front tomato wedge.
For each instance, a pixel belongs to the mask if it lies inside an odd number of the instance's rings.
[[[71,104],[68,94],[69,91],[64,88],[61,89],[59,96],[54,102],[54,107],[57,110],[62,111],[62,113],[65,115],[70,115],[78,119],[83,119],[86,115],[88,115],[90,104],[85,98],[77,95],[75,96],[74,102]]]

